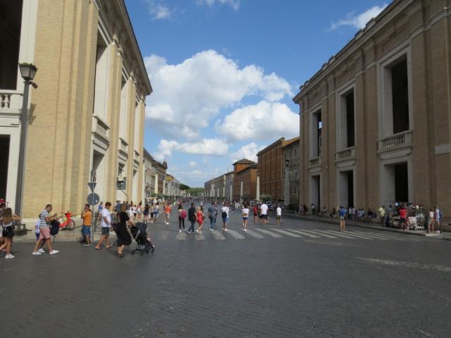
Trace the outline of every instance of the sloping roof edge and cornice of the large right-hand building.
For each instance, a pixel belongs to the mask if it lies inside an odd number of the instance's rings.
[[[302,84],[299,87],[300,90],[299,93],[297,93],[292,100],[295,101],[295,103],[299,103],[302,95],[305,92],[307,92],[308,89],[313,87],[314,84],[316,84],[316,82],[322,78],[322,75],[330,73],[330,71],[332,71],[333,68],[335,68],[337,65],[340,65],[343,58],[349,56],[349,54],[354,51],[353,47],[357,48],[357,45],[363,44],[368,39],[371,39],[373,33],[378,29],[378,27],[380,27],[378,23],[380,23],[381,20],[383,20],[383,18],[385,18],[385,16],[388,15],[388,13],[390,13],[390,11],[393,11],[398,5],[400,5],[404,1],[405,0],[394,0],[381,13],[379,13],[379,15],[376,16],[376,18],[372,18],[371,20],[369,20],[369,22],[366,23],[366,26],[362,30],[359,30],[350,40],[350,42],[348,42],[342,49],[340,49],[340,51],[338,51],[337,54],[330,57],[329,60],[323,64],[320,70],[318,70],[309,80],[304,82],[304,84]]]

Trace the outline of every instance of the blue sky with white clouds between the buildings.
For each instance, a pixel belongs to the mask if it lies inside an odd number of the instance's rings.
[[[144,147],[189,185],[299,136],[299,86],[389,0],[125,0],[154,92]]]

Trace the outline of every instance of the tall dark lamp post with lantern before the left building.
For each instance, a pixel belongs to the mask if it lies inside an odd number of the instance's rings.
[[[28,130],[28,93],[30,84],[36,89],[37,84],[32,80],[35,78],[37,68],[32,63],[19,63],[20,75],[24,81],[22,115],[20,116],[20,147],[19,147],[19,163],[17,170],[17,186],[16,186],[16,215],[22,215],[23,202],[23,182],[25,178],[25,150],[27,147],[27,130]]]

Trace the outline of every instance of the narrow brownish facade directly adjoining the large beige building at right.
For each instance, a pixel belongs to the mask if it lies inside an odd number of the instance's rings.
[[[299,204],[299,137],[285,141],[283,152],[283,201]]]

